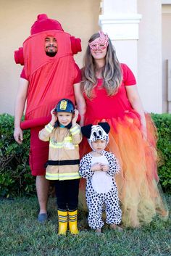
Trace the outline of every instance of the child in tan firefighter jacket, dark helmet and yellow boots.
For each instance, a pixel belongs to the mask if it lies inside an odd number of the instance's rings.
[[[59,232],[66,234],[67,220],[71,234],[78,234],[78,173],[82,140],[78,110],[69,99],[62,99],[51,111],[51,122],[39,132],[39,139],[49,141],[46,179],[56,181]]]

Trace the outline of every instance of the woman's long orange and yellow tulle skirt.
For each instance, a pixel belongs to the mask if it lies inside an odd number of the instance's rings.
[[[141,226],[150,223],[155,215],[167,220],[167,205],[159,191],[157,175],[157,131],[150,115],[146,115],[148,139],[144,140],[140,122],[133,113],[122,119],[107,121],[111,126],[107,150],[114,152],[120,160],[121,172],[115,179],[122,208],[124,226]],[[86,139],[80,145],[80,154],[90,152]],[[79,205],[86,209],[85,181],[80,182]]]

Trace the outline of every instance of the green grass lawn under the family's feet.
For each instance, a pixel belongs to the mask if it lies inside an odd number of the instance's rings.
[[[171,205],[171,196],[167,196]],[[171,255],[171,218],[159,218],[143,228],[125,228],[122,233],[104,226],[104,235],[90,231],[86,213],[80,212],[80,234],[57,236],[57,207],[49,199],[50,218],[46,224],[36,220],[36,197],[0,201],[0,256],[86,256],[86,255]]]

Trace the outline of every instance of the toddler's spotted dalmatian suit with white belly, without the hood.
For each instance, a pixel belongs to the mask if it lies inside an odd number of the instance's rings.
[[[107,172],[91,170],[95,162],[109,165]],[[86,202],[88,205],[88,225],[93,228],[101,228],[104,222],[101,219],[103,207],[106,207],[108,224],[119,224],[122,217],[117,194],[117,186],[114,174],[119,173],[120,165],[111,152],[101,152],[101,157],[93,157],[86,154],[80,161],[80,176],[86,178]]]

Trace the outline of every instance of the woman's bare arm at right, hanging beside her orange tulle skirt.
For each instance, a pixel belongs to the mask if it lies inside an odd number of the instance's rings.
[[[141,132],[143,134],[143,138],[147,138],[146,132],[146,117],[144,115],[143,104],[141,102],[140,96],[138,94],[137,86],[125,86],[127,91],[127,96],[132,105],[133,109],[138,112],[141,118]]]

